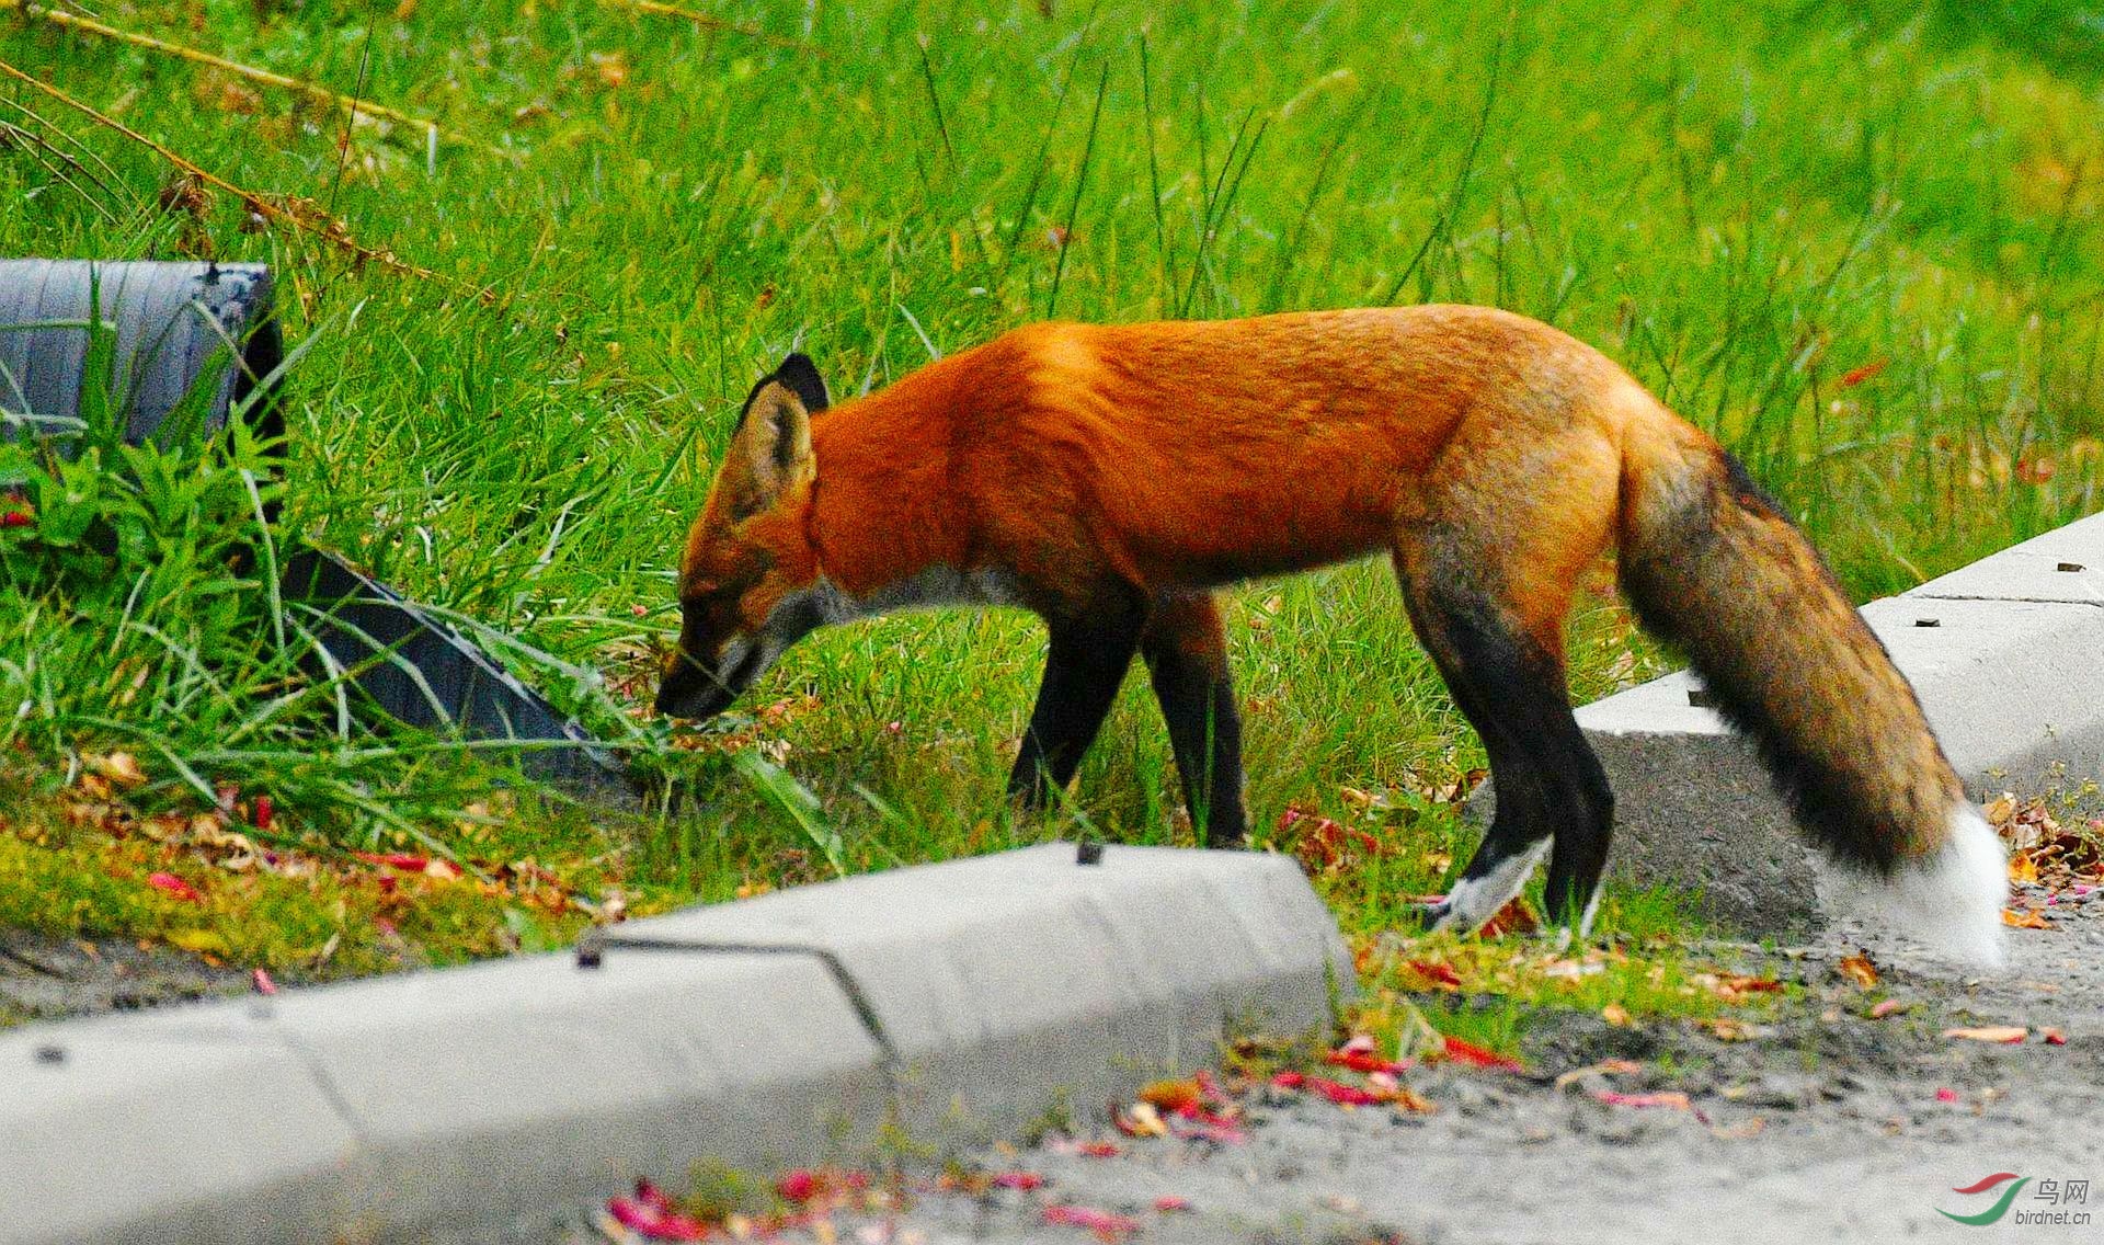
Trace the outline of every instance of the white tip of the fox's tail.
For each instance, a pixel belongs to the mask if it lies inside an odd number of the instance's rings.
[[[1944,959],[1976,970],[2005,963],[2001,909],[2009,900],[2009,856],[1969,803],[1950,810],[1942,850],[1856,887],[1854,898],[1873,927],[1915,938]]]

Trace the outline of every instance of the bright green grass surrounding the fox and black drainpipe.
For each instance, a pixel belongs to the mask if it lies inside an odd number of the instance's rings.
[[[34,111],[6,109],[15,124],[84,145],[99,181],[59,181],[65,166],[17,135],[0,246],[278,265],[288,332],[313,336],[282,532],[522,635],[547,656],[520,665],[673,799],[612,816],[528,797],[494,818],[501,843],[463,835],[461,810],[505,770],[339,713],[297,629],[276,637],[255,576],[221,570],[255,522],[204,486],[194,522],[160,522],[99,578],[0,585],[0,707],[19,707],[0,715],[6,780],[36,808],[61,799],[76,757],[122,747],[149,778],[128,795],[143,812],[231,784],[274,795],[286,841],[330,860],[417,848],[488,866],[539,843],[587,892],[642,906],[997,850],[1081,818],[1185,841],[1136,686],[1073,810],[1002,805],[1044,644],[1014,614],[858,625],[781,662],[743,707],[776,709],[732,726],[816,814],[640,713],[675,627],[684,524],[757,372],[804,347],[854,393],[1048,313],[1500,303],[1597,343],[1717,431],[1854,593],[1919,583],[2098,509],[2104,477],[2098,15],[1921,8],[709,11],[810,50],[583,0],[99,8],[429,116],[436,160],[410,126],[345,141],[328,105],[8,19],[8,63],[440,273],[244,231],[225,193],[164,208],[158,156],[4,88]],[[1469,833],[1422,793],[1481,763],[1475,738],[1384,568],[1231,597],[1254,820],[1300,805],[1376,824],[1393,856],[1323,887],[1355,932],[1380,927],[1395,896],[1437,885],[1429,852],[1464,856]],[[1578,698],[1666,660],[1612,604],[1582,612],[1572,652]],[[1347,787],[1427,808],[1365,818]],[[46,831],[27,818],[17,839]],[[67,860],[93,875],[90,856]],[[46,873],[63,890],[65,869]],[[32,875],[8,869],[0,890]],[[90,877],[82,902],[120,913],[103,890]],[[1639,940],[1685,927],[1671,904],[1626,906]],[[503,944],[501,909],[425,951]],[[364,938],[358,911],[337,927]]]

